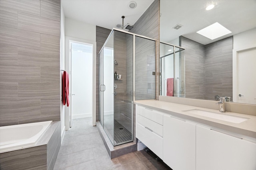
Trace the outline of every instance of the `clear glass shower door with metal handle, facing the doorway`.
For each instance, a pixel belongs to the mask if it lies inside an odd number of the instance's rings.
[[[99,121],[114,143],[114,45],[111,35],[98,56],[99,64]]]

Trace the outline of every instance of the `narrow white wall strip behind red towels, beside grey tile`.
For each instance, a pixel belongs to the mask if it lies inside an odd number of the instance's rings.
[[[60,19],[60,69],[65,70],[65,16],[61,5],[61,19]],[[60,71],[60,94],[62,94],[62,74]],[[61,139],[63,140],[65,134],[65,106],[60,102],[60,122],[61,122]],[[61,141],[62,141],[61,140]]]

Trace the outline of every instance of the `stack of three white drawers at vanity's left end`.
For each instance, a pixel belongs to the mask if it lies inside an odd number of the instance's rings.
[[[136,138],[163,159],[163,114],[137,106]]]

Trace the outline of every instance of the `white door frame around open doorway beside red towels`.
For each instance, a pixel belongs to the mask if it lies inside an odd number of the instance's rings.
[[[90,44],[93,46],[93,60],[92,60],[92,126],[96,125],[96,42],[88,41],[85,39],[79,39],[74,37],[65,36],[65,70],[68,72],[69,77],[71,78],[71,58],[70,58],[70,41],[77,42],[77,43],[84,43]],[[71,91],[71,81],[69,86],[71,98],[72,91]],[[70,113],[71,113],[71,100],[70,100],[70,107],[65,106],[65,126],[66,131],[70,129]]]

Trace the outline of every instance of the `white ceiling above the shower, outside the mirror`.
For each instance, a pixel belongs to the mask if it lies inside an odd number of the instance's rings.
[[[129,8],[129,2],[135,1],[137,7]],[[134,23],[142,16],[154,0],[62,0],[66,18],[82,21],[91,25],[112,29],[116,24],[124,26]],[[128,31],[128,29],[124,29]]]

